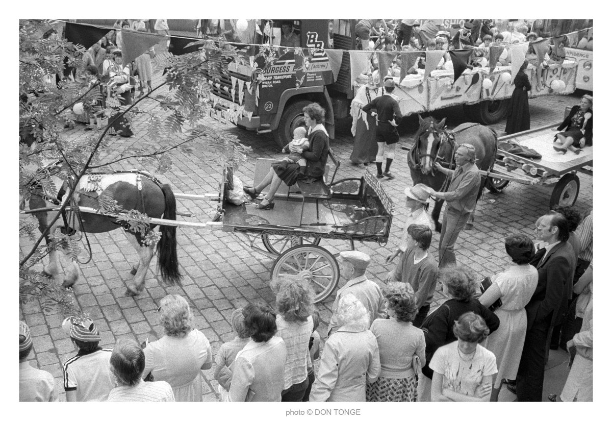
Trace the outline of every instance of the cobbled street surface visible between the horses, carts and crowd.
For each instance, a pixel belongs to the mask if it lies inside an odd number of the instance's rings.
[[[155,70],[153,85],[161,83],[162,67],[158,64]],[[568,96],[548,96],[530,101],[531,127],[552,124],[562,120],[565,107],[575,105],[580,101],[582,92]],[[140,111],[151,111],[158,105],[154,100],[144,100],[138,107]],[[133,138],[113,138],[107,158],[116,157],[118,151],[132,144],[143,146],[147,144],[146,119],[144,113],[136,113],[131,117],[135,132]],[[467,121],[461,108],[449,108],[438,111],[436,117],[447,117],[447,125],[452,129]],[[256,135],[238,129],[234,125],[222,124],[212,119],[207,124],[217,130],[236,135],[247,146],[253,148],[247,162],[237,171],[237,176],[250,184],[255,170],[255,158],[282,157],[279,148],[271,135]],[[359,177],[363,170],[349,163],[348,158],[353,148],[353,137],[350,132],[350,119],[337,122],[335,140],[330,141],[334,154],[342,164],[336,180],[345,177]],[[416,132],[418,121],[416,116],[406,117],[400,125],[400,146],[411,146],[412,136]],[[498,135],[504,135],[505,120],[492,126]],[[65,136],[76,138],[90,135],[84,132],[83,125],[77,125],[73,130],[65,130]],[[168,139],[173,143],[177,139]],[[222,178],[222,165],[217,157],[207,151],[200,141],[192,144],[192,155],[173,155],[173,166],[165,174],[155,174],[160,181],[169,183],[174,192],[204,195],[217,193],[218,184]],[[393,180],[384,179],[383,186],[393,199],[396,212],[393,228],[386,247],[372,242],[356,242],[357,250],[371,256],[372,262],[368,268],[368,276],[383,285],[389,270],[395,263],[386,266],[384,260],[390,251],[398,244],[401,237],[400,229],[405,222],[405,196],[403,191],[412,185],[408,164],[407,151],[398,147],[392,171],[396,175]],[[138,168],[134,161],[122,161],[113,165],[114,170]],[[375,171],[375,166],[368,166]],[[520,171],[520,170],[519,170]],[[580,195],[576,207],[586,212],[592,207],[592,177],[578,174],[580,177]],[[551,188],[528,186],[511,182],[500,194],[493,195],[485,190],[477,206],[474,228],[463,231],[457,241],[456,251],[458,263],[468,265],[479,275],[487,276],[501,272],[509,263],[504,250],[504,237],[511,233],[525,233],[533,236],[535,220],[548,210]],[[216,202],[192,201],[177,199],[177,211],[195,215],[192,218],[177,217],[192,222],[206,222],[215,214]],[[88,234],[91,242],[92,259],[88,264],[81,265],[81,278],[74,286],[76,301],[83,311],[89,313],[100,329],[102,346],[110,346],[120,338],[135,338],[139,343],[149,338],[156,340],[163,335],[159,326],[159,315],[155,311],[159,300],[166,294],[180,294],[187,298],[195,317],[195,326],[200,329],[211,342],[212,351],[216,354],[224,341],[233,339],[230,315],[235,308],[243,307],[248,302],[263,300],[274,304],[274,295],[269,289],[270,270],[274,261],[263,253],[253,250],[247,237],[241,234],[227,233],[221,230],[178,228],[177,252],[181,271],[184,275],[182,285],[163,286],[156,276],[157,259],[154,258],[146,279],[146,288],[137,297],[125,297],[125,282],[130,280],[130,269],[138,261],[138,255],[121,230],[105,234]],[[435,233],[430,252],[437,259],[439,234]],[[261,240],[256,240],[261,247]],[[28,239],[20,239],[20,247],[28,252],[32,243]],[[321,241],[321,246],[331,253],[348,250],[348,242],[340,240]],[[86,261],[86,253],[81,260]],[[438,286],[435,303],[437,308],[445,297]],[[327,322],[331,315],[331,307],[335,294],[325,302],[318,304],[322,322],[319,326],[321,337],[325,337]],[[58,313],[43,314],[38,303],[32,302],[20,308],[20,316],[31,329],[34,351],[30,358],[43,370],[50,371],[56,381],[56,389],[60,400],[65,400],[62,388],[61,363],[75,354],[70,338],[61,329],[62,315]],[[323,345],[322,345],[323,346]],[[552,352],[551,352],[552,354]],[[204,371],[204,400],[217,401],[217,382],[212,378],[213,370]],[[559,387],[560,392],[562,387]],[[504,388],[505,390],[505,388]],[[509,398],[507,400],[512,400]]]

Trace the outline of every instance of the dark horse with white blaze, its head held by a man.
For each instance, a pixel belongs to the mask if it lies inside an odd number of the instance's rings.
[[[476,123],[463,123],[454,130],[444,127],[446,117],[439,123],[433,117],[419,116],[419,130],[416,141],[408,152],[408,166],[412,183],[423,183],[436,191],[446,191],[450,178],[440,171],[435,171],[433,163],[438,161],[446,168],[455,169],[455,151],[462,143],[469,143],[476,150],[476,166],[480,170],[493,169],[497,155],[497,133],[494,130]],[[482,195],[486,177],[482,177],[478,198]],[[439,223],[440,210],[444,200],[435,202],[431,211],[431,218],[436,224],[436,231],[440,232],[442,224]],[[472,221],[474,213],[472,212]]]

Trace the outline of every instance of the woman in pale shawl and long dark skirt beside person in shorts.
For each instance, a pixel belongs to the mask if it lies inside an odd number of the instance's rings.
[[[376,152],[378,152],[376,117],[369,113],[363,113],[361,109],[381,95],[382,90],[378,88],[378,83],[378,70],[374,70],[367,83],[357,89],[351,102],[351,116],[353,117],[351,133],[353,133],[355,141],[353,153],[349,159],[357,165],[368,165],[368,163],[376,160]]]

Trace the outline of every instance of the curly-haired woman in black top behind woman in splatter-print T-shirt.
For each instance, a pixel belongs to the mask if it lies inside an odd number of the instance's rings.
[[[433,370],[429,367],[431,357],[438,348],[455,340],[453,326],[459,316],[473,311],[485,320],[489,332],[494,332],[499,327],[498,316],[474,298],[478,281],[471,269],[466,266],[446,266],[440,269],[438,279],[442,282],[442,293],[450,299],[427,316],[421,325],[421,329],[425,332],[427,363],[423,367],[424,376],[419,379],[419,401],[430,400],[433,377]]]

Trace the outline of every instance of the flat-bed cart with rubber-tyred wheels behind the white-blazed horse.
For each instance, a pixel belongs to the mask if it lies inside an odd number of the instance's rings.
[[[528,158],[517,152],[504,151],[498,147],[498,157],[488,175],[487,188],[499,193],[510,181],[528,185],[553,187],[550,207],[559,204],[572,206],[578,198],[580,179],[578,172],[592,175],[593,147],[584,147],[580,154],[568,151],[566,154],[553,149],[553,137],[558,124],[526,130],[513,135],[501,136],[498,141],[517,143],[542,155],[542,158]],[[518,148],[515,148],[518,149]]]

